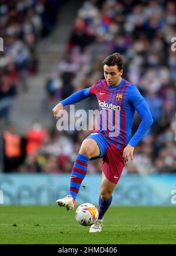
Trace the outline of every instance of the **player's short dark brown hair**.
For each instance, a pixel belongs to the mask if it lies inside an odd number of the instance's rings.
[[[118,52],[113,53],[113,54],[107,56],[106,59],[103,60],[103,66],[104,65],[107,65],[107,66],[115,66],[115,65],[117,65],[117,68],[119,69],[119,71],[121,69],[123,69],[123,64],[124,64],[124,58]]]

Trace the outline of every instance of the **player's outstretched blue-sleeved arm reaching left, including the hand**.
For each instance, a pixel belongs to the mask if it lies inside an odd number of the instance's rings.
[[[67,97],[65,100],[62,100],[61,102],[59,102],[54,108],[53,108],[53,115],[56,117],[56,119],[58,119],[58,115],[59,112],[63,109],[63,107],[65,107],[66,105],[70,105],[73,103],[77,103],[80,102],[84,99],[86,99],[87,97],[91,96],[92,94],[89,92],[90,88],[86,88],[83,90],[79,90],[79,92],[74,93],[73,95],[70,95],[69,97]]]

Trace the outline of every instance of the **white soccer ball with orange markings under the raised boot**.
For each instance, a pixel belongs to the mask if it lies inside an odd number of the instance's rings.
[[[90,226],[96,223],[99,212],[94,204],[84,203],[77,207],[75,218],[80,225]]]

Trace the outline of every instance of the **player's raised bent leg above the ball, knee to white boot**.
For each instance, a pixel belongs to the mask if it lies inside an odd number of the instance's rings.
[[[72,174],[70,178],[69,195],[56,201],[59,206],[64,206],[67,210],[75,208],[76,196],[84,177],[87,174],[87,166],[90,159],[100,156],[100,149],[97,142],[93,139],[85,139],[77,154],[75,163],[73,164]]]

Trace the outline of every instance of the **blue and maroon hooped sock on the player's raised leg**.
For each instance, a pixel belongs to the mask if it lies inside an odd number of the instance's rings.
[[[73,165],[72,174],[70,178],[70,196],[76,199],[79,188],[82,181],[87,173],[87,166],[89,162],[89,157],[78,154]]]

